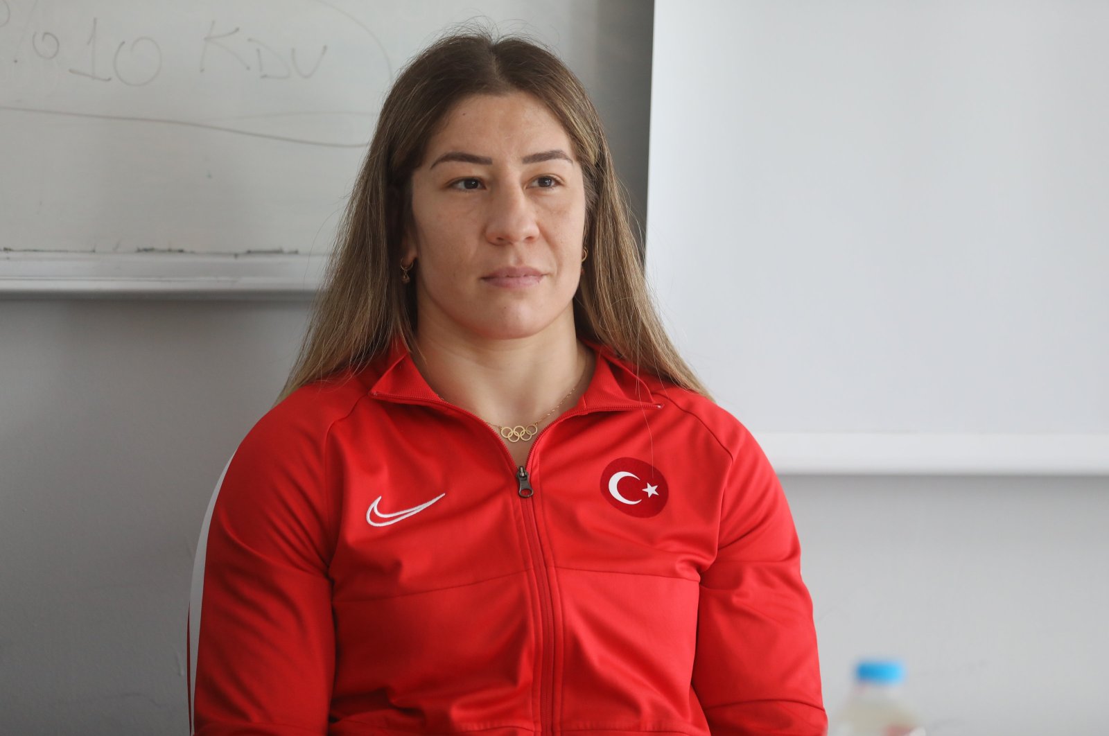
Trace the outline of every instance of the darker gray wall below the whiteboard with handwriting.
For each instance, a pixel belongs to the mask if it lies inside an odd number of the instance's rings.
[[[207,499],[297,304],[0,301],[0,733],[187,733]]]

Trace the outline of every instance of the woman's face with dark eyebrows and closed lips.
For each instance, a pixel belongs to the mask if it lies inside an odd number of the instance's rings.
[[[459,102],[413,173],[411,203],[404,263],[417,259],[421,333],[511,339],[572,325],[586,192],[542,102],[523,92]]]

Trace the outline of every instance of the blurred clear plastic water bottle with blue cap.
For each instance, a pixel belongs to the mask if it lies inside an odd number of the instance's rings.
[[[905,665],[864,660],[855,668],[855,689],[828,729],[830,736],[925,736],[916,713],[902,699]]]

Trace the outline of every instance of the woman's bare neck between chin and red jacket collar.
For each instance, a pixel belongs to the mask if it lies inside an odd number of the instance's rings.
[[[573,323],[515,339],[475,339],[421,325],[413,359],[445,400],[497,426],[549,423],[586,390],[592,355]],[[567,393],[570,393],[567,396]],[[553,409],[553,413],[546,416]]]

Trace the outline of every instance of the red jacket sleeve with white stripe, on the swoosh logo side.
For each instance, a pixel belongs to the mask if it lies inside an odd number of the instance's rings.
[[[196,736],[327,732],[335,635],[325,439],[326,429],[271,412],[216,489],[190,606]]]

